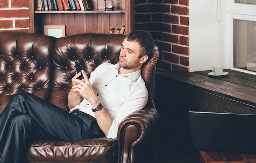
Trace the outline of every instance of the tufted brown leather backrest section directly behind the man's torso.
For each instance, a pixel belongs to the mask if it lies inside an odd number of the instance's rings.
[[[67,95],[72,87],[71,79],[76,74],[75,62],[81,63],[89,77],[101,63],[118,62],[121,43],[125,37],[119,34],[83,33],[58,38],[53,52],[55,67],[50,102],[69,111]],[[151,106],[154,106],[155,65],[158,55],[155,46],[154,55],[142,68],[142,77],[149,91],[148,104]]]

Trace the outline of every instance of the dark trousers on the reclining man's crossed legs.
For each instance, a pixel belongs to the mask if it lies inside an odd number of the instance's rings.
[[[0,163],[23,163],[31,141],[78,141],[106,137],[94,117],[74,115],[20,92],[0,114]]]

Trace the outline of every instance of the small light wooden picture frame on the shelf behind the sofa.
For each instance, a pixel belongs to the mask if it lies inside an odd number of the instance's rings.
[[[45,35],[56,38],[65,36],[65,25],[45,25]]]

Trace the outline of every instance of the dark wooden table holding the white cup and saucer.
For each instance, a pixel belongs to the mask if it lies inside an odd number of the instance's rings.
[[[256,114],[256,76],[225,69],[226,76],[211,71],[156,73],[156,107],[160,115],[159,139],[196,154],[188,112]],[[200,156],[198,152],[198,156]]]

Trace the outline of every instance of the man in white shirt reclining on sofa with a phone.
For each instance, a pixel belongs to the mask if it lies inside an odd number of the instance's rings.
[[[147,103],[141,67],[153,47],[150,33],[133,31],[122,42],[118,64],[99,65],[90,79],[83,70],[76,74],[68,95],[70,113],[25,92],[13,96],[0,114],[0,163],[22,163],[34,140],[117,137],[119,123]]]

